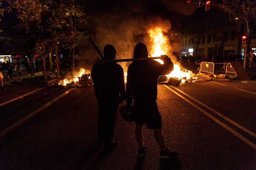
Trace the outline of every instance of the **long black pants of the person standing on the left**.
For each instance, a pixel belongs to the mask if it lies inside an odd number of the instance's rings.
[[[98,136],[97,140],[111,142],[114,136],[118,100],[98,100]]]

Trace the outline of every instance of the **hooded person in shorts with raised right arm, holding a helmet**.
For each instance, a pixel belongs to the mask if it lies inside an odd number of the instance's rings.
[[[138,43],[134,48],[134,58],[147,58],[148,50],[145,44]],[[164,64],[148,59],[132,62],[127,71],[126,102],[132,104],[134,99],[135,136],[138,142],[138,155],[146,151],[142,141],[142,126],[154,130],[154,137],[160,146],[160,157],[174,158],[179,154],[171,152],[165,145],[162,132],[162,117],[157,107],[157,83],[161,75],[173,71],[173,62],[165,55]]]

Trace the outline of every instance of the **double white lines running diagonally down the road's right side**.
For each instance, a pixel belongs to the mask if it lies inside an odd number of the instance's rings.
[[[256,150],[256,145],[251,142],[250,140],[248,140],[246,137],[242,136],[240,133],[236,132],[235,130],[233,130],[232,128],[230,128],[229,126],[227,126],[226,124],[224,124],[223,122],[221,122],[219,119],[215,118],[214,116],[212,116],[210,113],[206,112],[205,110],[203,110],[202,108],[200,108],[199,106],[197,106],[196,104],[192,103],[191,101],[189,101],[188,99],[186,99],[184,96],[180,95],[179,93],[177,93],[176,91],[174,91],[173,89],[171,89],[170,87],[168,87],[167,85],[164,85],[167,89],[169,89],[170,91],[174,92],[176,95],[178,95],[180,98],[182,98],[184,101],[188,102],[190,105],[194,106],[196,109],[200,110],[202,113],[204,113],[206,116],[208,116],[209,118],[211,118],[212,120],[214,120],[214,122],[218,123],[220,126],[222,126],[223,128],[225,128],[226,130],[228,130],[229,132],[233,133],[233,135],[237,136],[239,139],[241,139],[243,142],[245,142],[247,145],[251,146],[253,149]],[[172,86],[173,87],[173,86]],[[175,87],[173,87],[174,89],[177,89]],[[177,89],[178,91],[180,91],[180,89]],[[180,91],[182,92],[182,91]],[[182,92],[184,95],[188,96],[189,98],[193,99],[194,101],[197,102],[196,99],[194,99],[193,97],[187,95],[186,93]],[[199,102],[199,101],[198,101]],[[199,102],[201,103],[201,102]],[[203,103],[202,103],[203,104]],[[204,106],[204,104],[203,104]],[[206,105],[205,105],[206,106]],[[208,106],[206,108],[209,108]],[[210,109],[213,110],[213,109]],[[216,111],[217,112],[217,111]],[[219,113],[219,112],[218,112]],[[220,113],[219,113],[220,114]],[[220,114],[221,115],[221,114]],[[225,117],[225,116],[224,116]],[[225,117],[226,118],[226,117]],[[227,118],[229,119],[229,118]],[[230,119],[229,119],[230,120]],[[232,120],[231,120],[232,121]],[[233,121],[232,121],[233,122]],[[235,123],[235,122],[234,122]],[[236,126],[238,124],[236,123]],[[240,125],[239,125],[240,126]],[[238,127],[238,126],[237,126]],[[240,126],[241,128],[243,128],[243,126]],[[244,128],[246,129],[246,128]],[[243,130],[244,130],[243,129]],[[246,129],[247,130],[247,129]],[[249,131],[249,130],[247,130]],[[250,133],[252,133],[251,135],[253,135],[254,137],[256,136],[255,133],[249,131]],[[248,132],[247,132],[248,133]],[[250,134],[249,133],[249,134]]]

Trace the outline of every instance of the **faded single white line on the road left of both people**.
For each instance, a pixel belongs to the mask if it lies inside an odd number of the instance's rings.
[[[30,113],[29,115],[25,116],[24,118],[20,119],[19,121],[13,123],[11,126],[7,127],[6,129],[2,130],[0,132],[0,137],[6,135],[6,133],[10,132],[11,130],[13,130],[14,128],[16,128],[17,126],[21,125],[22,123],[24,123],[26,120],[32,118],[33,116],[35,116],[38,112],[41,112],[43,109],[47,108],[48,106],[52,105],[52,103],[58,101],[60,98],[62,98],[63,96],[67,95],[69,92],[75,90],[76,88],[72,88],[64,93],[62,93],[61,95],[59,95],[58,97],[56,97],[55,99],[53,99],[52,101],[46,103],[45,105],[41,106],[40,108],[36,109],[35,111],[33,111],[32,113]]]

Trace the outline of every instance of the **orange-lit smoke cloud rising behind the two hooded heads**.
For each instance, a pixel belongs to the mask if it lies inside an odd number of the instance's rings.
[[[180,32],[172,30],[171,18],[192,14],[195,10],[189,7],[186,1],[171,0],[122,0],[118,2],[112,0],[105,4],[96,1],[93,7],[93,20],[96,23],[96,34],[93,39],[102,53],[106,44],[112,44],[118,50],[117,59],[132,58],[134,47],[139,42],[146,44],[149,52],[152,42],[148,30],[161,27],[170,40],[167,55],[173,62],[177,61],[177,58],[171,56],[172,52],[179,50],[182,36]],[[178,36],[171,37],[171,33],[177,33]],[[80,56],[85,58],[83,64],[92,68],[93,63],[99,60],[99,57],[92,45],[86,44],[82,48]],[[119,64],[126,72],[130,63]]]

